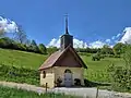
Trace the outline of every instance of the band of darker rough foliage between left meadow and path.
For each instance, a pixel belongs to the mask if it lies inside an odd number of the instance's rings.
[[[39,85],[39,72],[25,68],[0,65],[0,79]]]

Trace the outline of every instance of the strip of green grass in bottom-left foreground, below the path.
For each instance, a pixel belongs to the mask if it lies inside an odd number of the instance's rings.
[[[41,94],[0,86],[0,98],[79,98],[62,94]]]

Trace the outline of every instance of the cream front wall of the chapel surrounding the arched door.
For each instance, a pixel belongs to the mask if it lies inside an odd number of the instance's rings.
[[[64,85],[64,71],[69,69],[72,72],[73,76],[73,84],[74,84],[74,78],[80,78],[81,84],[84,86],[84,69],[83,68],[68,68],[68,66],[55,66],[55,81],[60,76],[62,79],[62,85]]]

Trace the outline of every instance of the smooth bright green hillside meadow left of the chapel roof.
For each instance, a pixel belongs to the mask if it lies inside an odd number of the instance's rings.
[[[37,70],[47,56],[17,50],[0,49],[0,63]]]

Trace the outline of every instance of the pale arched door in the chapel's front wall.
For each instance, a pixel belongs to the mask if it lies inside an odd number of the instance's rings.
[[[72,86],[72,72],[68,69],[64,71],[64,85],[66,87]]]

